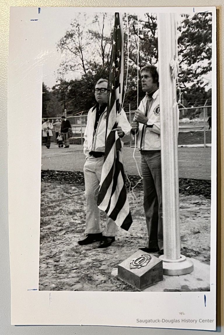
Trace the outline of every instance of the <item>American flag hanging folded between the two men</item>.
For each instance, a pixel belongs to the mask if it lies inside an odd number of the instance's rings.
[[[107,93],[105,155],[97,205],[119,227],[128,230],[132,217],[125,187],[122,144],[117,132],[111,131],[117,128],[121,111],[123,75],[123,27],[119,13],[115,13]]]

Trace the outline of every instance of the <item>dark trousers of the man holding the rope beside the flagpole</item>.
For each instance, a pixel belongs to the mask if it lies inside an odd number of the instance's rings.
[[[148,231],[146,248],[163,249],[162,180],[160,150],[141,151],[144,211]]]

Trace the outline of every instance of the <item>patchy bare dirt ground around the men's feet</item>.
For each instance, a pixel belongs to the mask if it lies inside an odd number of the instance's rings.
[[[44,181],[41,186],[39,290],[135,291],[111,275],[113,268],[132,255],[146,239],[143,192],[129,203],[133,223],[119,229],[116,241],[98,249],[98,242],[79,246],[84,237],[84,186]],[[101,214],[102,227],[105,214]],[[182,254],[210,264],[210,199],[180,194]]]

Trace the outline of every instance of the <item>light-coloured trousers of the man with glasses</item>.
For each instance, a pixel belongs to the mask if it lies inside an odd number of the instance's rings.
[[[84,164],[85,196],[86,196],[86,234],[102,232],[100,224],[100,210],[97,207],[97,197],[100,188],[100,179],[104,157],[87,158]],[[104,236],[116,236],[116,223],[107,216]]]

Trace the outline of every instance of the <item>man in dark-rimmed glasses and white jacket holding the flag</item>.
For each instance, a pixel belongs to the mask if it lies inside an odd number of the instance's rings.
[[[95,86],[96,105],[90,109],[87,117],[87,125],[84,134],[84,164],[85,196],[86,196],[86,229],[84,240],[78,241],[79,245],[86,245],[100,241],[98,248],[109,247],[114,241],[117,231],[115,222],[107,217],[106,227],[102,235],[100,224],[100,210],[97,207],[97,197],[101,172],[104,162],[105,135],[106,135],[106,111],[107,111],[107,85],[106,79],[99,79]],[[118,117],[118,125],[114,131],[122,139],[130,134],[131,126],[124,110]]]

